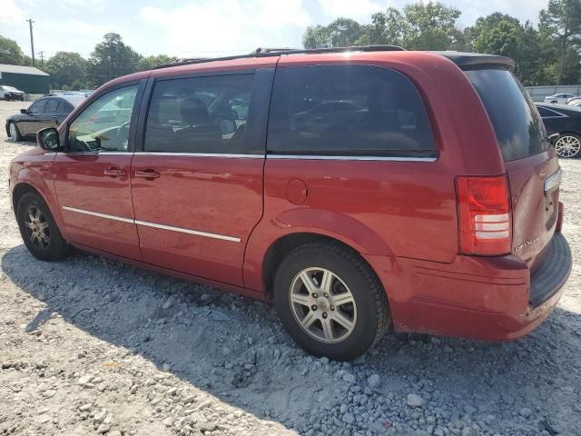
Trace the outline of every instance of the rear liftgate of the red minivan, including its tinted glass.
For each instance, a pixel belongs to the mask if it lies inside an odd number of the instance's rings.
[[[533,269],[553,237],[560,168],[555,149],[527,92],[507,69],[465,72],[497,135],[512,197],[513,253]]]

